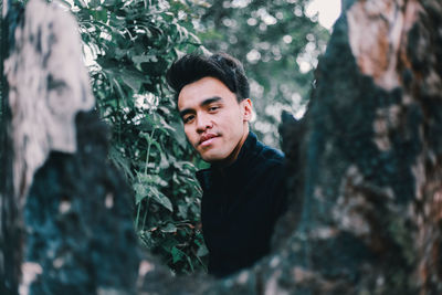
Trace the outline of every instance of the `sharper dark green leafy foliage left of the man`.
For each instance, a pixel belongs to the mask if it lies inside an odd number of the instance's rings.
[[[135,192],[140,240],[177,273],[204,270],[199,226],[200,160],[190,149],[165,87],[165,73],[180,51],[199,40],[180,22],[186,2],[75,0],[97,109],[112,127],[109,159]],[[193,164],[182,159],[193,159]]]

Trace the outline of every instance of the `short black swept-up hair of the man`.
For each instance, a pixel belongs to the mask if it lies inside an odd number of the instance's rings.
[[[187,54],[170,66],[166,78],[178,101],[182,87],[208,76],[221,81],[236,95],[238,102],[249,98],[250,86],[244,67],[239,60],[227,53],[211,56]]]

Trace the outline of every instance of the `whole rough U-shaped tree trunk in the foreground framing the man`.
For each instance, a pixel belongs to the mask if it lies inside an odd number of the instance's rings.
[[[81,112],[91,106],[84,70],[48,65],[65,50],[52,50],[65,40],[55,28],[66,21],[65,33],[72,20],[39,0],[24,11],[4,71],[2,293],[19,289],[11,270],[22,271],[22,294],[442,293],[439,0],[344,2],[308,112],[282,127],[291,207],[274,250],[222,281],[172,277],[137,247],[105,126]],[[80,44],[70,39],[66,50]],[[77,66],[80,52],[70,55],[63,62]]]

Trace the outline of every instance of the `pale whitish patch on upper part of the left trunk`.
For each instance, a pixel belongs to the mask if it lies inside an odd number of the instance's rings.
[[[27,4],[4,61],[13,136],[14,191],[20,202],[51,150],[74,152],[75,114],[94,98],[73,15],[40,0]]]

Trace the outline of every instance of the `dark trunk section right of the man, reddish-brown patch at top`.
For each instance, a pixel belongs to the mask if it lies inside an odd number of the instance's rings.
[[[442,292],[441,9],[352,1],[336,24],[304,118],[293,287]]]

